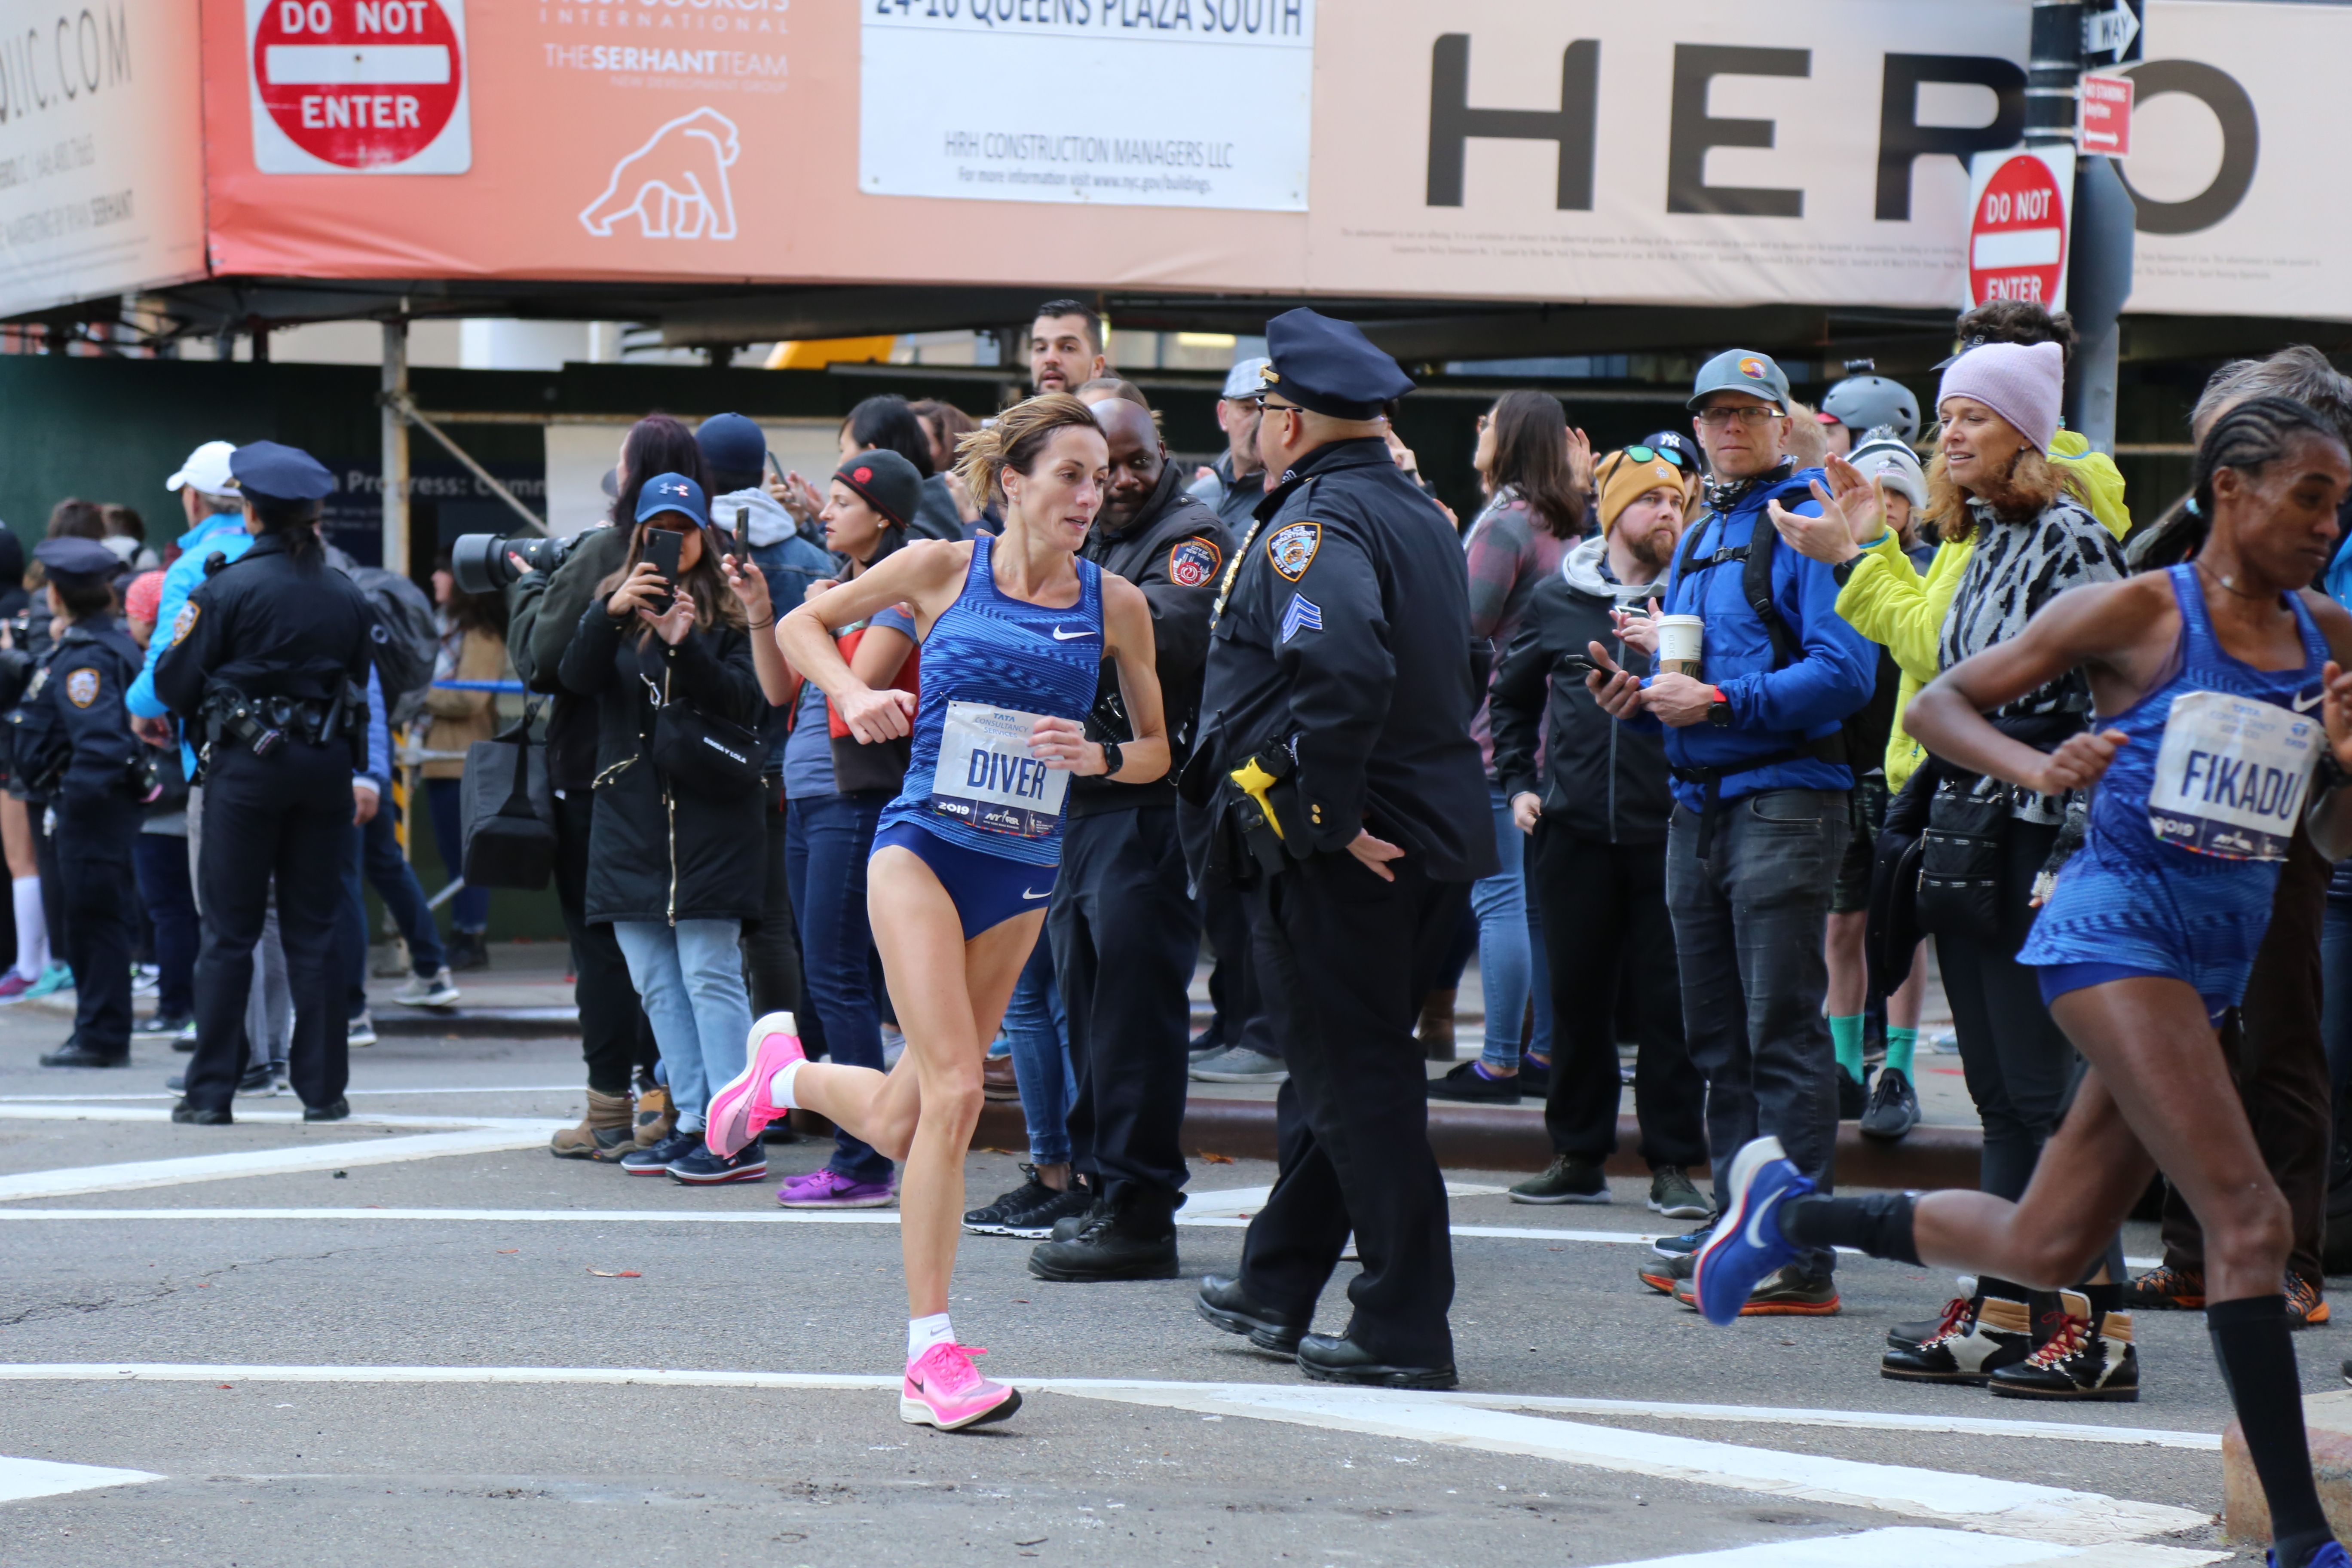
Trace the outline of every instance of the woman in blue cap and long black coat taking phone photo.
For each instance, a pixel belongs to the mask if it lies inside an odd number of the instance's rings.
[[[663,534],[675,538],[675,581],[647,559],[666,552],[668,541],[649,548]],[[760,856],[743,849],[767,832],[757,778],[727,788],[654,762],[666,710],[746,731],[760,717],[743,609],[720,571],[696,480],[663,473],[637,491],[628,557],[581,611],[560,677],[597,705],[588,924],[612,926],[621,943],[677,1112],[677,1131],[623,1154],[621,1168],[694,1185],[760,1180],[757,1145],[717,1159],[701,1140],[710,1084],[743,1065],[750,1025],[739,940],[760,917]]]

